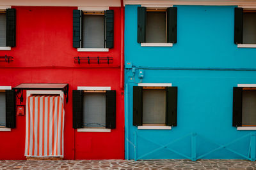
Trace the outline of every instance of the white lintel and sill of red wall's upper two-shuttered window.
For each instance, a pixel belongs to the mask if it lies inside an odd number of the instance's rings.
[[[81,11],[106,11],[109,10],[109,7],[84,7],[79,6],[78,10]],[[82,32],[83,28],[81,27],[82,24],[80,23],[80,33]],[[106,27],[105,27],[106,32]],[[81,34],[80,34],[81,36]],[[109,52],[109,48],[77,48],[77,52]]]

